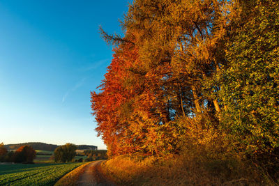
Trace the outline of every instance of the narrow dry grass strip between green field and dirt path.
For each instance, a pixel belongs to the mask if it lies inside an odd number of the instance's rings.
[[[62,185],[76,185],[77,180],[79,179],[80,175],[84,172],[84,166],[87,164],[90,164],[91,162],[87,162],[86,164],[82,164],[81,166],[77,167],[77,169],[74,169],[73,171],[70,171],[70,173],[67,173],[65,176],[63,176],[58,182],[55,183],[55,186],[62,186]]]

